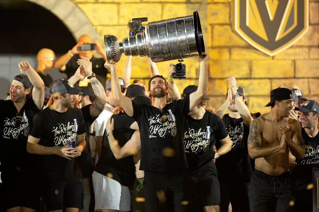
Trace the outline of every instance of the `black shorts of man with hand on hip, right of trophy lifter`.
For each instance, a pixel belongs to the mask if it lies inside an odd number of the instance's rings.
[[[213,162],[190,172],[190,189],[195,211],[199,210],[200,203],[202,206],[220,204],[220,185]]]

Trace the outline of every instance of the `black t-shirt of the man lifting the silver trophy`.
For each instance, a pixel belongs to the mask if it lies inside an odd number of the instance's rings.
[[[169,172],[187,167],[184,151],[184,118],[189,113],[189,96],[162,109],[132,101],[133,118],[141,137],[140,170]],[[166,156],[165,156],[165,155]]]

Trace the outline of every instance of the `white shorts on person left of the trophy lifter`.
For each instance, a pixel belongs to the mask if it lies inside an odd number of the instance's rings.
[[[131,193],[127,186],[96,171],[92,174],[92,181],[96,210],[131,210]]]

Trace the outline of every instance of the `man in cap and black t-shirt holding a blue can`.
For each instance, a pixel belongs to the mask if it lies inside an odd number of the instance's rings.
[[[53,105],[34,116],[29,133],[26,149],[41,155],[48,211],[78,211],[81,207],[77,157],[85,148],[85,125],[81,110],[74,107],[75,94],[80,90],[67,80],[57,81],[52,87]],[[69,147],[72,139],[75,148]]]

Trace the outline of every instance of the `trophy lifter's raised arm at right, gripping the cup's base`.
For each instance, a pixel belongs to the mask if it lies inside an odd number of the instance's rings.
[[[208,59],[210,58],[210,55],[207,53],[204,53],[204,58],[199,58],[200,67],[199,67],[199,77],[198,77],[198,88],[197,91],[192,92],[189,95],[189,110],[193,110],[193,108],[198,104],[198,102],[203,99],[203,97],[207,93],[207,67],[206,63]]]

